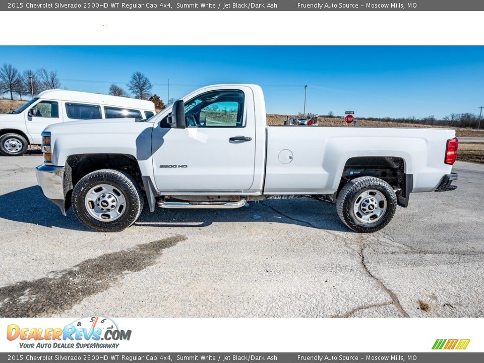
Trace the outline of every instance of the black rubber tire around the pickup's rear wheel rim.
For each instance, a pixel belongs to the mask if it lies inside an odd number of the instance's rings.
[[[373,216],[371,213],[375,207],[372,210],[367,209],[367,204],[364,204],[365,201],[360,198],[362,195],[368,195],[368,193],[373,193],[375,196],[383,195],[385,197],[380,202],[377,201],[376,197],[372,201],[372,204],[376,203],[375,205],[379,210],[385,208],[380,216],[375,217],[374,222],[372,220],[361,220],[362,218]],[[368,197],[370,199],[372,198],[371,195]],[[355,207],[355,203],[359,208],[365,208],[369,214],[365,215],[364,212],[362,213],[361,209]],[[354,211],[355,208],[358,209],[356,213]],[[396,208],[397,196],[393,188],[385,180],[373,176],[361,176],[348,181],[336,199],[336,210],[338,211],[339,218],[341,218],[346,226],[358,233],[372,233],[382,229],[392,220]]]

